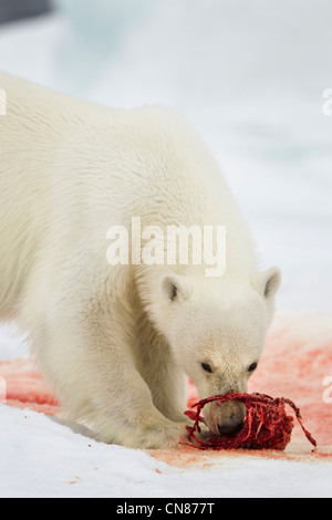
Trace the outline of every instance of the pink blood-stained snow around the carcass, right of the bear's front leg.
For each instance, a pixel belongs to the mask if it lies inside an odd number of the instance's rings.
[[[297,425],[286,451],[231,450],[195,454],[194,448],[154,450],[155,458],[177,467],[209,467],[227,464],[229,457],[260,457],[289,461],[332,461],[332,404],[324,403],[323,381],[332,376],[332,319],[331,313],[282,315],[271,330],[264,355],[250,381],[249,392],[287,397],[301,409],[305,427],[318,441],[311,453],[301,427]],[[189,382],[188,407],[199,401]]]

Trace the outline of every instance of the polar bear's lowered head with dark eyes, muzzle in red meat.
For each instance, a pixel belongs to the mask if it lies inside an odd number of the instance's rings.
[[[162,301],[152,305],[154,320],[201,399],[247,392],[263,352],[280,281],[278,268],[250,281],[198,282],[174,273],[163,278]],[[207,425],[216,434],[241,429],[245,416],[245,405],[236,402],[205,407]]]

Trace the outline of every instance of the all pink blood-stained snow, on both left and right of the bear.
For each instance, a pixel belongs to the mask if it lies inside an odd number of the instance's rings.
[[[42,375],[31,361],[0,362],[0,376],[7,383],[10,406],[28,408],[50,416],[61,408]],[[248,456],[292,461],[332,460],[332,404],[324,403],[323,381],[332,376],[332,315],[331,313],[281,314],[268,336],[264,355],[250,381],[249,392],[287,397],[301,409],[303,423],[318,441],[318,450],[310,445],[297,426],[291,444],[283,453],[273,450],[231,450],[197,453],[190,447],[156,449],[147,453],[172,466],[210,467],[227,464],[229,458]],[[199,401],[191,382],[188,385],[188,408]],[[75,483],[73,481],[73,483]]]

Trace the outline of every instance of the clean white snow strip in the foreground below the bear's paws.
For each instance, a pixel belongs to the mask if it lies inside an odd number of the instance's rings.
[[[0,445],[1,497],[331,497],[330,464],[243,456],[221,457],[208,469],[175,468],[6,405]]]

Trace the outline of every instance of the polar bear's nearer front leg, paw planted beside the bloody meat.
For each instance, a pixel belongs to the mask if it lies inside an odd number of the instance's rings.
[[[71,418],[83,419],[107,444],[177,446],[184,423],[166,418],[138,373],[127,331],[115,312],[56,311],[32,334],[34,352]],[[111,314],[111,315],[110,315]],[[104,318],[103,318],[104,315]]]

